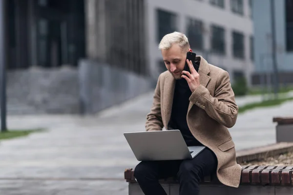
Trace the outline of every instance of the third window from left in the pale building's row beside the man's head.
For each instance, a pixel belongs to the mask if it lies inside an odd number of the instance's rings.
[[[212,52],[216,54],[226,54],[225,29],[220,26],[212,25],[211,31]]]

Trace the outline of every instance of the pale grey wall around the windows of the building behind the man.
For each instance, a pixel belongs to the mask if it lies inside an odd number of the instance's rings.
[[[226,31],[226,55],[209,55],[209,63],[225,68],[233,80],[234,70],[243,71],[250,83],[250,76],[254,70],[253,61],[250,59],[250,39],[253,35],[253,25],[250,17],[249,1],[244,0],[244,15],[239,16],[232,13],[230,0],[225,0],[225,9],[213,6],[209,0],[146,0],[146,29],[147,29],[147,49],[150,60],[151,73],[157,77],[159,72],[158,60],[162,59],[158,50],[157,41],[157,13],[156,9],[161,8],[177,14],[176,25],[178,31],[187,32],[187,17],[203,21],[204,27],[209,30],[210,24],[218,24]],[[243,32],[245,35],[245,59],[234,59],[232,56],[232,30]],[[205,49],[210,49],[209,32],[204,35]],[[202,51],[195,51],[197,55],[206,57]]]

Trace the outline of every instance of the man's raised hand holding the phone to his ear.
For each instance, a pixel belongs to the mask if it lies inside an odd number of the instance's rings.
[[[182,71],[182,78],[185,78],[186,81],[188,82],[188,86],[191,90],[191,92],[193,93],[196,88],[200,85],[200,81],[199,81],[199,74],[198,72],[196,72],[195,68],[192,65],[191,60],[186,59],[186,62],[188,64],[190,73],[188,71]]]

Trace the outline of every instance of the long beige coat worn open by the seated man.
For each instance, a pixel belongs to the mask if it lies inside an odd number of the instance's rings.
[[[201,56],[198,73],[200,86],[191,94],[187,114],[194,137],[211,149],[218,159],[217,177],[221,183],[238,187],[241,166],[236,163],[230,132],[237,119],[238,106],[227,71],[209,64]],[[166,71],[157,82],[153,105],[146,117],[146,131],[167,130],[171,116],[175,79]]]

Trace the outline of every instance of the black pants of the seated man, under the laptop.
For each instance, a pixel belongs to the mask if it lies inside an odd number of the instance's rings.
[[[214,153],[205,148],[193,159],[142,161],[134,169],[134,176],[145,195],[167,195],[159,179],[177,176],[180,195],[199,195],[199,183],[217,168]]]

